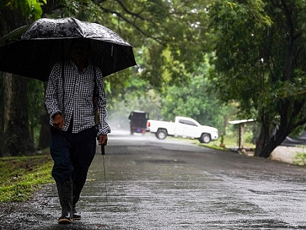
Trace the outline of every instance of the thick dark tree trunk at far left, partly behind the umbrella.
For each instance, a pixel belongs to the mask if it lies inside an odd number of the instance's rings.
[[[0,36],[25,24],[19,9],[12,10],[5,6],[0,9]],[[27,79],[6,73],[1,81],[0,155],[29,154],[34,146],[29,135],[27,87],[24,87],[27,86]]]

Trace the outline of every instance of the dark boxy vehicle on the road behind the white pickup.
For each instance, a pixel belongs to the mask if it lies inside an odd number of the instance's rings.
[[[147,129],[147,120],[149,120],[149,113],[134,110],[131,112],[129,120],[131,135],[133,135],[134,132],[145,134]]]

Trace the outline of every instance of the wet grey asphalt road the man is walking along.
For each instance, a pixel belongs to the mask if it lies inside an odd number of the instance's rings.
[[[57,224],[57,190],[15,204],[3,229],[306,229],[306,170],[180,141],[113,132],[98,148],[78,210]],[[24,210],[24,212],[20,212]],[[1,228],[0,227],[0,228]]]

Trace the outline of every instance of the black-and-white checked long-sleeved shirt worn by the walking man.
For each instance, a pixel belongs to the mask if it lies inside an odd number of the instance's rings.
[[[94,75],[96,70],[96,76]],[[61,63],[56,63],[50,73],[48,87],[45,92],[45,105],[50,114],[50,125],[52,125],[54,114],[61,113],[64,116],[64,127],[67,131],[73,121],[72,132],[80,132],[96,125],[94,121],[94,89],[98,91],[97,107],[99,111],[99,135],[107,135],[110,126],[106,118],[106,95],[104,91],[103,76],[99,68],[89,66],[79,72],[73,61],[64,63],[64,93],[63,79],[61,77]],[[96,77],[96,79],[95,79]],[[64,95],[64,109],[63,109]]]

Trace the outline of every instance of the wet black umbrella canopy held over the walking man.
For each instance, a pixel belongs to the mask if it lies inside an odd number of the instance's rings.
[[[0,71],[48,81],[54,63],[66,61],[72,39],[91,43],[90,59],[103,77],[136,66],[133,49],[117,33],[73,17],[37,20],[0,39]]]

